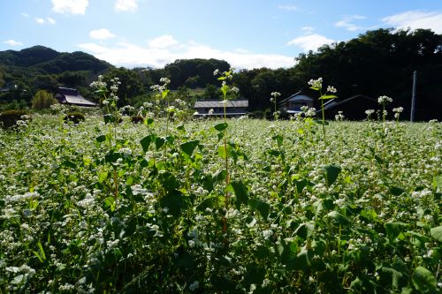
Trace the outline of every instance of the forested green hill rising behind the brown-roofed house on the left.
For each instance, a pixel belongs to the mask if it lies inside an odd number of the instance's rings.
[[[38,90],[54,93],[58,86],[77,87],[89,94],[88,83],[111,68],[113,65],[80,51],[57,52],[43,46],[0,51],[0,88],[14,90],[2,94],[1,100],[29,103]]]

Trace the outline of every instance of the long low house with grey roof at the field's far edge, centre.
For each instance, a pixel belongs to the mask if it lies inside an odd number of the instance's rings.
[[[224,116],[224,102],[222,100],[197,100],[194,103],[195,116],[221,117]],[[248,100],[234,99],[225,101],[225,115],[227,117],[240,117],[247,114]]]

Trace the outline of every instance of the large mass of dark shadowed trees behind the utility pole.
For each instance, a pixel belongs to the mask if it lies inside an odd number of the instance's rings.
[[[431,30],[378,29],[347,42],[325,45],[297,57],[295,71],[306,82],[322,77],[341,98],[386,94],[409,117],[413,72],[417,71],[416,118],[439,118],[442,109],[442,35]],[[324,85],[324,87],[327,87]]]

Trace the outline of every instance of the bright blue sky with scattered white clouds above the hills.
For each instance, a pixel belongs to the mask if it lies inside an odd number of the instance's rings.
[[[218,58],[289,67],[324,43],[380,27],[442,34],[440,0],[1,0],[0,50],[43,45],[118,66]]]

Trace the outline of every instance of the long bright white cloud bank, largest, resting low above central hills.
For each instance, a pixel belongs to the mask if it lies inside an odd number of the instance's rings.
[[[166,38],[163,37],[163,40]],[[158,37],[154,40],[160,39]],[[171,36],[170,36],[171,37]],[[173,37],[170,38],[173,40]],[[164,42],[165,44],[165,42]],[[130,43],[117,43],[107,47],[97,43],[83,43],[78,45],[81,49],[91,52],[95,57],[106,60],[118,66],[153,66],[164,67],[177,59],[190,58],[217,58],[230,63],[235,68],[252,69],[259,67],[279,68],[290,67],[295,64],[293,57],[276,54],[257,54],[243,50],[223,51],[210,46],[188,41],[176,41],[169,47],[146,46],[140,47]]]

